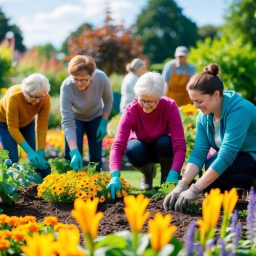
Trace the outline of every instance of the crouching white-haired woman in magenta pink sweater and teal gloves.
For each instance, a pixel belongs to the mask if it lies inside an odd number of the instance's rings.
[[[185,160],[186,143],[177,104],[164,95],[164,80],[157,72],[142,75],[136,99],[121,116],[110,153],[111,196],[120,190],[120,169],[125,154],[142,173],[141,189],[152,188],[155,163],[161,165],[161,183],[178,182]]]

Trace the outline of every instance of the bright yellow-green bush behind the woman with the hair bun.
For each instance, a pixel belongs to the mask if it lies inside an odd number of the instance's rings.
[[[188,61],[200,72],[209,63],[217,63],[224,88],[256,102],[256,50],[250,42],[244,43],[241,38],[232,41],[226,37],[206,38],[197,42],[197,48],[190,49]]]

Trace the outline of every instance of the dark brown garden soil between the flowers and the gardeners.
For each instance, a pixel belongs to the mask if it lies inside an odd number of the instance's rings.
[[[200,204],[203,200],[203,195],[199,196],[198,203]],[[44,201],[42,198],[37,196],[37,185],[31,184],[28,187],[23,188],[19,192],[19,200],[12,206],[4,206],[4,214],[8,216],[35,216],[38,222],[44,220],[48,216],[56,216],[59,222],[66,224],[76,224],[76,221],[71,215],[73,204],[51,204]],[[129,224],[125,218],[123,211],[124,203],[123,200],[112,200],[105,203],[99,203],[98,211],[103,212],[104,217],[101,219],[98,229],[99,236],[105,236],[110,233],[121,230],[130,230]],[[237,209],[246,209],[247,202],[239,200],[236,206]],[[147,210],[151,212],[150,219],[160,211],[162,214],[170,213],[172,215],[171,224],[176,225],[177,231],[174,236],[184,242],[187,228],[191,221],[197,221],[201,218],[200,214],[191,211],[185,211],[182,213],[176,211],[164,211],[163,199],[152,200],[147,207]],[[220,218],[221,221],[221,218]],[[220,221],[218,226],[220,227]],[[240,219],[245,224],[245,219]],[[142,232],[147,232],[147,222],[142,228]]]

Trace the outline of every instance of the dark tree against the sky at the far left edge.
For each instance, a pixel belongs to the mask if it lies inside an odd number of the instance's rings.
[[[24,52],[26,48],[23,45],[22,31],[16,25],[9,25],[9,20],[0,8],[0,42],[6,37],[8,32],[12,32],[15,38],[15,49]]]

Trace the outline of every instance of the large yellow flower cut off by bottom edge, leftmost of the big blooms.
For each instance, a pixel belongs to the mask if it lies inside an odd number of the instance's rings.
[[[53,241],[53,233],[41,235],[39,233],[33,233],[32,237],[27,236],[27,245],[20,246],[20,250],[26,256],[54,256]]]

